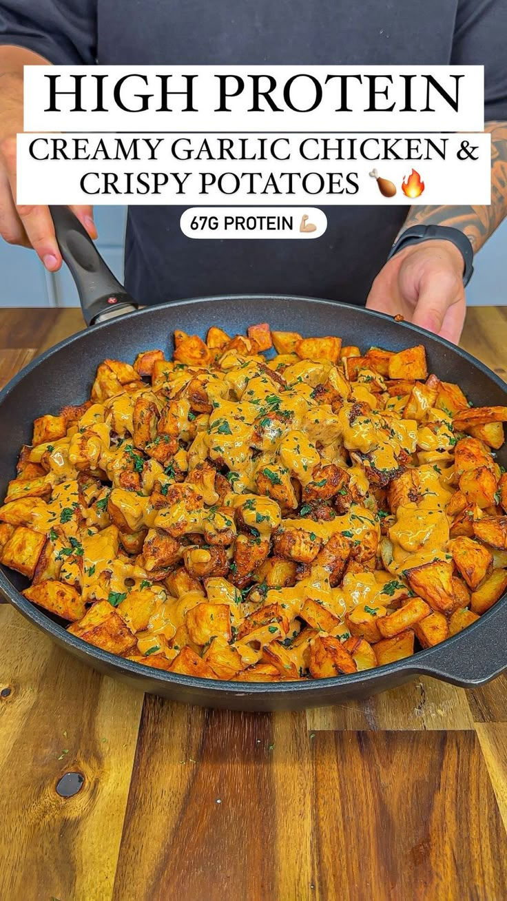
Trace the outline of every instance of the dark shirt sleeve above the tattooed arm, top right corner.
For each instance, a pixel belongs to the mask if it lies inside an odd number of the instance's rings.
[[[507,0],[459,0],[451,62],[484,66],[484,122],[506,122]]]

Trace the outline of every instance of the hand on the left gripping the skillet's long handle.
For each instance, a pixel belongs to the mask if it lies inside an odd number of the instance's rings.
[[[25,51],[27,52],[27,51]],[[27,60],[31,61],[31,60]],[[16,133],[23,132],[23,76],[4,74],[0,91],[0,235],[9,244],[32,247],[50,272],[61,266],[61,254],[47,206],[17,205]],[[97,232],[92,206],[71,206],[90,238]]]

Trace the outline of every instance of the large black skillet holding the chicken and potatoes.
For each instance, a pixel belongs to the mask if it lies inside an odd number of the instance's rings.
[[[76,280],[83,314],[91,328],[42,354],[0,394],[0,497],[5,496],[9,479],[14,478],[21,445],[30,443],[35,417],[57,414],[62,406],[85,400],[95,369],[106,357],[132,361],[138,351],[155,347],[170,355],[175,328],[204,336],[213,324],[234,334],[245,332],[251,323],[268,322],[275,329],[304,335],[338,334],[345,344],[358,344],[361,349],[378,344],[403,350],[422,342],[430,371],[458,382],[475,405],[507,403],[507,388],[501,379],[464,350],[413,325],[395,323],[388,316],[354,306],[308,297],[220,296],[132,312],[135,302],[105,266],[75,216],[67,207],[51,207],[51,213],[60,249]],[[104,317],[110,321],[104,322]],[[94,324],[100,320],[102,324]],[[507,464],[504,449],[498,460]],[[507,668],[507,597],[464,632],[406,660],[353,676],[263,685],[179,676],[115,657],[69,635],[58,617],[25,600],[19,592],[26,585],[23,576],[0,567],[2,595],[62,648],[134,687],[186,704],[236,710],[298,710],[367,697],[401,685],[417,674],[475,687]]]

